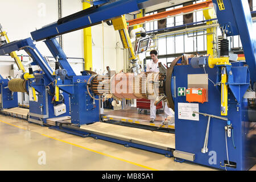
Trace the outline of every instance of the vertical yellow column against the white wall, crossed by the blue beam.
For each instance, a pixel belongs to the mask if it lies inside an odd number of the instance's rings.
[[[90,3],[82,1],[82,9],[88,9]],[[92,70],[92,28],[84,28],[84,69]]]

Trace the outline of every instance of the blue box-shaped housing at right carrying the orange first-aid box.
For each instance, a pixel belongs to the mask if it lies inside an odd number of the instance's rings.
[[[247,67],[243,67],[245,63],[232,63],[232,70],[237,70],[234,75],[238,87],[247,82],[249,86],[249,71]],[[209,79],[219,82],[219,68],[205,68]],[[186,75],[204,74],[203,68],[192,68],[191,65],[177,65],[174,67],[173,76],[176,77],[176,88],[188,88],[188,78]],[[235,72],[235,71],[234,71]],[[238,79],[238,78],[241,78]],[[247,89],[247,88],[246,88]],[[247,170],[256,162],[255,149],[253,148],[254,136],[250,135],[250,121],[248,119],[247,100],[243,99],[243,94],[246,89],[240,89],[233,92],[228,90],[228,116],[227,118],[232,123],[233,136],[228,138],[228,154],[229,162],[236,163],[236,168],[226,167],[234,170]],[[204,104],[198,103],[199,112],[211,115],[220,115],[220,86],[214,86],[212,82],[208,85],[208,102]],[[240,101],[236,100],[236,94],[239,94]],[[202,153],[201,148],[204,146],[205,130],[207,129],[208,117],[199,115],[199,121],[187,119],[179,119],[179,103],[188,103],[186,97],[175,97],[175,150],[195,154],[193,162],[210,166],[214,168],[225,169],[224,160],[227,160],[226,145],[225,145],[225,129],[227,123],[221,119],[211,118],[209,126],[208,148],[209,152]],[[214,156],[213,156],[214,155]],[[215,161],[213,160],[215,157]]]

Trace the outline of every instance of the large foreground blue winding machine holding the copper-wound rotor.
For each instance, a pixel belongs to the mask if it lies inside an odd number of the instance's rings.
[[[48,82],[55,89],[55,96],[58,90],[62,90],[69,94],[71,100],[71,122],[61,122],[51,128],[174,156],[177,162],[187,160],[228,170],[249,169],[256,163],[255,135],[251,133],[255,129],[256,115],[256,61],[247,1],[213,0],[224,37],[220,57],[192,57],[188,63],[181,62],[182,58],[177,57],[168,69],[159,65],[159,73],[144,73],[131,46],[123,14],[160,2],[119,0],[103,3],[31,32],[34,40],[45,39],[44,42],[60,64],[54,77],[49,68],[43,69]],[[118,73],[110,77],[90,75],[85,71],[81,76],[75,75],[55,36],[107,20],[112,20],[114,29],[121,35],[123,46],[129,49],[133,73]],[[233,35],[240,35],[246,63],[229,60],[225,38]],[[2,49],[5,52],[13,51],[11,48],[18,45],[16,48],[25,49],[33,57],[38,56],[31,39],[7,45],[9,51],[3,46],[0,52]],[[146,43],[142,43],[141,48],[145,46]],[[33,48],[35,51],[32,51]],[[38,59],[42,60],[38,64],[43,63],[42,67],[46,67],[42,56],[39,55],[35,60]],[[36,75],[31,79],[35,80]],[[42,90],[36,83],[42,84],[42,75],[30,82],[31,88]],[[248,89],[251,89],[252,94],[247,93]],[[99,122],[101,102],[98,101],[110,97],[117,102],[122,98],[156,99],[155,105],[167,100],[168,106],[175,111],[175,134]],[[114,116],[105,118],[115,120]],[[131,118],[122,118],[121,121],[143,122]],[[168,123],[164,125],[168,127]]]

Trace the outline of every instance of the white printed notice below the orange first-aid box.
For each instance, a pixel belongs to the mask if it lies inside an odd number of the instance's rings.
[[[199,121],[199,114],[193,113],[193,111],[199,112],[199,104],[178,103],[179,119]]]

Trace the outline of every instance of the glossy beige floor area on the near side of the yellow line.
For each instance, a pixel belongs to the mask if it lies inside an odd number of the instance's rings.
[[[144,170],[1,122],[0,136],[0,170]]]

